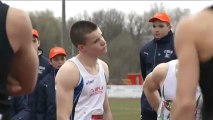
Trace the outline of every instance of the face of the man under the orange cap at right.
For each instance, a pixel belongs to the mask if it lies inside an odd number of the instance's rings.
[[[166,36],[170,30],[171,25],[168,25],[165,22],[162,22],[160,20],[156,20],[153,22],[152,33],[155,39],[161,39],[162,37]]]

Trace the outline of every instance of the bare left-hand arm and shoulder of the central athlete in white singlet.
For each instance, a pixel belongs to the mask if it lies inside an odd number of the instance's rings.
[[[80,79],[77,66],[71,61],[65,62],[56,75],[57,120],[69,120],[72,114],[74,88]]]

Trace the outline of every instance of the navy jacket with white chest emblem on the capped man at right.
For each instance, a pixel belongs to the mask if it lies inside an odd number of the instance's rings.
[[[160,63],[177,59],[174,50],[174,37],[172,31],[160,40],[152,40],[147,43],[140,51],[140,65],[142,77],[146,76]],[[141,97],[141,109],[152,110],[144,93]]]

